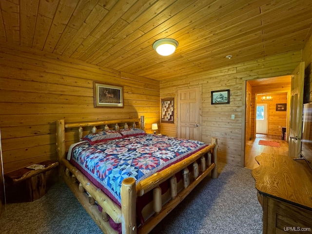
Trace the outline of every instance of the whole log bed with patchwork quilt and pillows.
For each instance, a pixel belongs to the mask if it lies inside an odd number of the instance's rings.
[[[144,128],[143,116],[57,121],[60,176],[103,233],[149,233],[204,177],[218,177],[216,138],[208,145]]]

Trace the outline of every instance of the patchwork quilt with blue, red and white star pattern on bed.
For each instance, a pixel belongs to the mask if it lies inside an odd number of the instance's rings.
[[[82,141],[70,147],[68,159],[120,205],[124,178],[138,182],[206,146],[196,140],[147,134],[94,145]]]

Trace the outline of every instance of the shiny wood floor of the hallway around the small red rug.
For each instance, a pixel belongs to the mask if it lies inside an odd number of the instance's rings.
[[[281,147],[259,145],[259,140],[277,141]],[[281,140],[280,136],[256,134],[255,139],[247,141],[245,147],[245,167],[250,169],[258,167],[259,165],[254,158],[261,155],[261,153],[273,153],[276,155],[288,156],[288,142],[286,140]]]

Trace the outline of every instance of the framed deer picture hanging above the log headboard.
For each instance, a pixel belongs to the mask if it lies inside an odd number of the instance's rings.
[[[123,86],[93,82],[94,107],[123,107]]]

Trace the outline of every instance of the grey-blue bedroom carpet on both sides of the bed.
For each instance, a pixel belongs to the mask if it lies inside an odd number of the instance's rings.
[[[151,234],[261,234],[262,208],[251,170],[219,163]],[[100,234],[64,183],[28,203],[2,206],[1,234]]]

